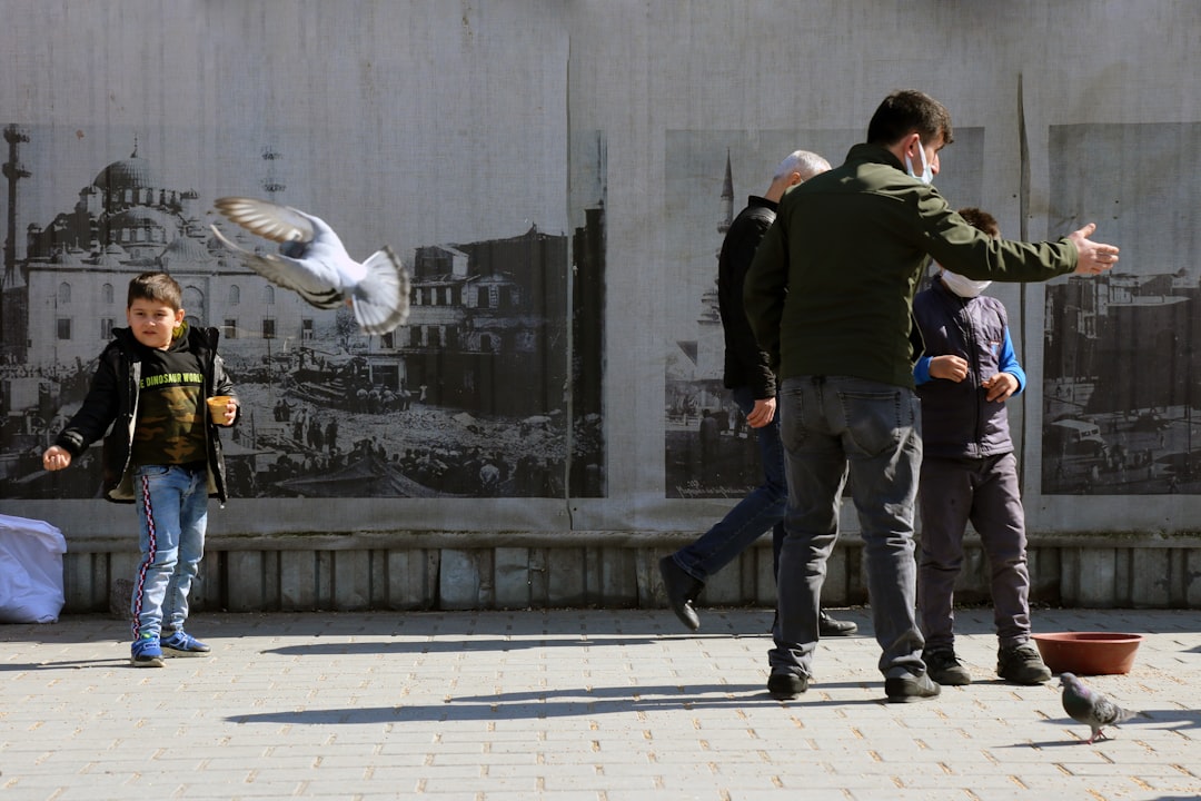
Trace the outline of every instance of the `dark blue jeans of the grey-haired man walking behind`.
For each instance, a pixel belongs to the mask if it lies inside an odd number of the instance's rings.
[[[755,397],[749,387],[731,390],[734,402],[749,414]],[[705,581],[734,561],[739,554],[759,539],[767,530],[773,531],[773,569],[779,566],[779,545],[784,538],[784,504],[788,485],[784,479],[784,448],[779,442],[779,410],[775,419],[761,429],[755,429],[759,441],[759,460],[763,462],[763,484],[737,502],[724,518],[701,534],[694,543],[675,554],[676,564],[692,578]]]

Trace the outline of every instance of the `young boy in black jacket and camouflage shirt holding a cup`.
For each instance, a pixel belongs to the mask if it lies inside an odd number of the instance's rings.
[[[131,660],[204,656],[184,632],[187,594],[204,555],[208,498],[226,501],[217,426],[238,419],[238,399],[217,355],[215,328],[184,319],[183,291],[166,273],[130,281],[129,328],[113,330],[79,412],[42,455],[48,471],[104,440],[103,495],[136,503],[142,558],[133,580]]]

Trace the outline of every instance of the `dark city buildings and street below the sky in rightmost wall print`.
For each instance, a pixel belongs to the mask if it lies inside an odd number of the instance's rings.
[[[1199,300],[1185,271],[1047,287],[1044,494],[1201,490]]]

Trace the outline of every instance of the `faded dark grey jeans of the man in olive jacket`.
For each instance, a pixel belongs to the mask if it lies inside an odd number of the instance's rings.
[[[879,669],[924,674],[914,611],[913,516],[921,465],[921,406],[904,387],[844,376],[802,376],[779,393],[788,512],[779,554],[772,673],[813,677],[826,560],[838,538],[849,474],[859,513]]]

